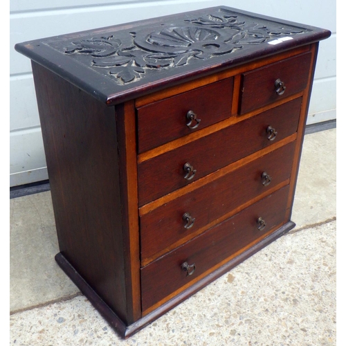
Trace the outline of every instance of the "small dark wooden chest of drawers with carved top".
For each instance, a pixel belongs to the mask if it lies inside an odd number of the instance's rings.
[[[295,226],[318,42],[219,7],[17,44],[58,264],[127,338]]]

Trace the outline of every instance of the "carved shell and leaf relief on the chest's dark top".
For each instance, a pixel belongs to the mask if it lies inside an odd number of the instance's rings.
[[[220,9],[196,19],[185,19],[181,26],[161,26],[120,37],[92,37],[72,42],[64,53],[89,55],[91,66],[106,69],[120,84],[135,82],[152,69],[170,69],[198,60],[231,54],[248,44],[262,44],[273,37],[297,35],[304,30],[252,17],[233,15]],[[306,30],[305,30],[306,31]]]

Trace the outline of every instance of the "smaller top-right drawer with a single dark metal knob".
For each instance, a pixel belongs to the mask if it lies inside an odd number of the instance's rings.
[[[310,62],[311,53],[307,52],[243,73],[239,114],[302,91],[307,86]],[[277,80],[284,83],[284,89],[275,86]]]

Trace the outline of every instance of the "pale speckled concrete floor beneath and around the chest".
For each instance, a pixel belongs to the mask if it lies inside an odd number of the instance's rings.
[[[305,136],[297,226],[128,340],[60,270],[50,192],[10,200],[10,345],[336,345],[336,129]]]

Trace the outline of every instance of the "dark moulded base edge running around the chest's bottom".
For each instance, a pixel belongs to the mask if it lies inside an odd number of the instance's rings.
[[[57,264],[59,264],[59,266],[62,268],[62,270],[66,273],[66,275],[68,275],[73,283],[78,287],[78,289],[80,289],[80,291],[86,296],[86,298],[88,298],[91,304],[93,304],[93,307],[95,307],[95,309],[98,310],[102,317],[107,320],[109,325],[111,325],[111,327],[116,330],[119,336],[122,338],[129,338],[129,336],[134,335],[137,331],[140,331],[140,329],[143,329],[145,326],[161,317],[167,311],[176,307],[176,305],[183,302],[183,300],[186,300],[191,295],[210,284],[210,282],[216,280],[221,275],[224,275],[224,273],[227,273],[228,271],[230,271],[230,269],[234,268],[235,266],[246,260],[248,257],[251,257],[251,255],[257,253],[257,251],[260,251],[271,242],[274,242],[277,238],[288,233],[294,227],[294,222],[287,222],[286,224],[284,224],[284,226],[271,233],[271,235],[268,235],[268,237],[262,239],[251,248],[248,248],[248,250],[230,260],[230,262],[227,262],[216,271],[213,271],[206,277],[203,277],[203,279],[199,280],[199,282],[196,282],[185,291],[179,293],[179,295],[176,295],[171,300],[165,302],[165,304],[162,304],[161,307],[158,307],[154,311],[148,313],[146,316],[143,316],[143,318],[140,318],[131,325],[125,325],[125,323],[116,315],[116,313],[114,313],[111,308],[109,308],[109,306],[102,300],[98,293],[96,293],[91,288],[91,286],[89,286],[89,284],[83,279],[83,277],[75,270],[75,268],[73,268],[69,261],[66,260],[62,253],[57,253],[57,255],[55,255],[55,260]]]

